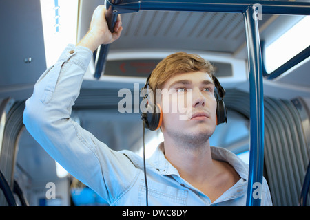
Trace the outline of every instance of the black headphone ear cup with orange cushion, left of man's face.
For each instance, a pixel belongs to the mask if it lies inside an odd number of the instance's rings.
[[[152,109],[151,104],[147,104],[147,112],[145,113],[145,127],[151,131],[156,131],[161,126],[163,121],[163,113],[161,111],[161,106],[159,104],[154,105]],[[153,112],[152,112],[153,111]]]

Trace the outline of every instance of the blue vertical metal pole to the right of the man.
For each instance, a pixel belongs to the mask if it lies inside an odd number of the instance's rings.
[[[264,93],[258,16],[253,5],[245,11],[250,96],[250,159],[247,206],[260,206],[264,165]]]

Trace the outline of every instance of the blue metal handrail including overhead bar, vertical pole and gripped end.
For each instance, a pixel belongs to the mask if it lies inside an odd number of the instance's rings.
[[[251,121],[251,145],[249,161],[249,182],[247,190],[247,206],[260,206],[261,196],[254,198],[255,186],[262,186],[262,170],[264,160],[264,115],[263,115],[263,92],[262,92],[262,54],[260,51],[260,39],[257,31],[258,24],[256,8],[252,5],[259,4],[262,14],[299,14],[310,15],[310,3],[291,1],[243,1],[236,0],[106,0],[105,6],[112,14],[106,14],[107,21],[114,21],[118,14],[138,12],[139,10],[170,10],[170,11],[193,11],[193,12],[231,12],[242,13],[245,18],[245,28],[247,32],[247,48],[249,57],[249,84],[250,84],[250,121]],[[253,15],[253,17],[252,17]],[[116,21],[116,20],[115,20]],[[115,22],[111,22],[109,27],[113,28]],[[111,29],[110,29],[111,30]],[[105,65],[108,53],[107,50],[99,54],[97,60],[100,67],[95,72],[95,77],[100,78],[101,66]],[[257,185],[260,184],[260,185]]]

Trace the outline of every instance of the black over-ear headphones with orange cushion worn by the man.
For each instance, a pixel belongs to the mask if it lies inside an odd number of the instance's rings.
[[[151,78],[151,74],[147,77],[146,83],[143,89],[149,88],[149,78]],[[227,108],[224,103],[225,89],[220,85],[218,78],[216,76],[212,76],[214,85],[216,87],[216,125],[227,123]],[[147,99],[149,94],[145,94],[143,100]],[[141,114],[141,119],[145,123],[145,127],[151,131],[156,131],[161,126],[161,122],[163,121],[163,111],[161,111],[161,106],[159,104],[152,104],[147,100],[147,104],[145,106],[145,112]]]

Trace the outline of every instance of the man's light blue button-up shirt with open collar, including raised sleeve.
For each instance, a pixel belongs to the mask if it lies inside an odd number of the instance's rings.
[[[68,45],[34,86],[23,122],[45,151],[110,206],[145,206],[143,159],[131,151],[113,151],[70,118],[91,57],[89,49]],[[213,159],[231,164],[240,175],[214,202],[180,177],[160,144],[146,162],[149,206],[245,206],[247,164],[225,148],[211,147],[211,154]],[[265,179],[261,205],[272,206]]]

